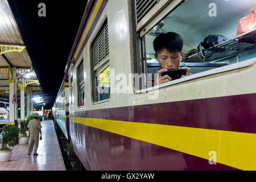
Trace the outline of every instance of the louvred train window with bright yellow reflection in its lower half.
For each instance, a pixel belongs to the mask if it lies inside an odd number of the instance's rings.
[[[106,19],[92,47],[92,85],[93,102],[110,98],[110,66],[109,66],[109,38],[108,20]]]

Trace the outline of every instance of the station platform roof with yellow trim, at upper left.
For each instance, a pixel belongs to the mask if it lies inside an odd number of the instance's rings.
[[[10,51],[10,46],[19,46],[20,52]],[[0,48],[0,101],[9,102],[9,74],[7,72],[9,65],[17,68],[18,78],[22,78],[24,72],[32,72],[33,68],[19,27],[6,1],[0,1]],[[38,80],[36,74],[33,73],[30,73],[30,79]],[[36,83],[31,86],[40,88]],[[19,96],[19,92],[17,94]]]

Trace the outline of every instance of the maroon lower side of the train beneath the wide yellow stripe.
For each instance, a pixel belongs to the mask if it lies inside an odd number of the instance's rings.
[[[76,154],[88,170],[239,170],[79,123],[72,125]]]

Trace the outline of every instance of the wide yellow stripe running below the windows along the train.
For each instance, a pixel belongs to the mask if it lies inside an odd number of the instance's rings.
[[[207,160],[214,151],[217,163],[256,170],[256,134],[95,118],[76,117],[71,121]]]

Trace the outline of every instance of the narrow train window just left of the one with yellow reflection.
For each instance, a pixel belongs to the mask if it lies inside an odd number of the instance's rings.
[[[84,60],[77,67],[77,106],[84,106]]]

